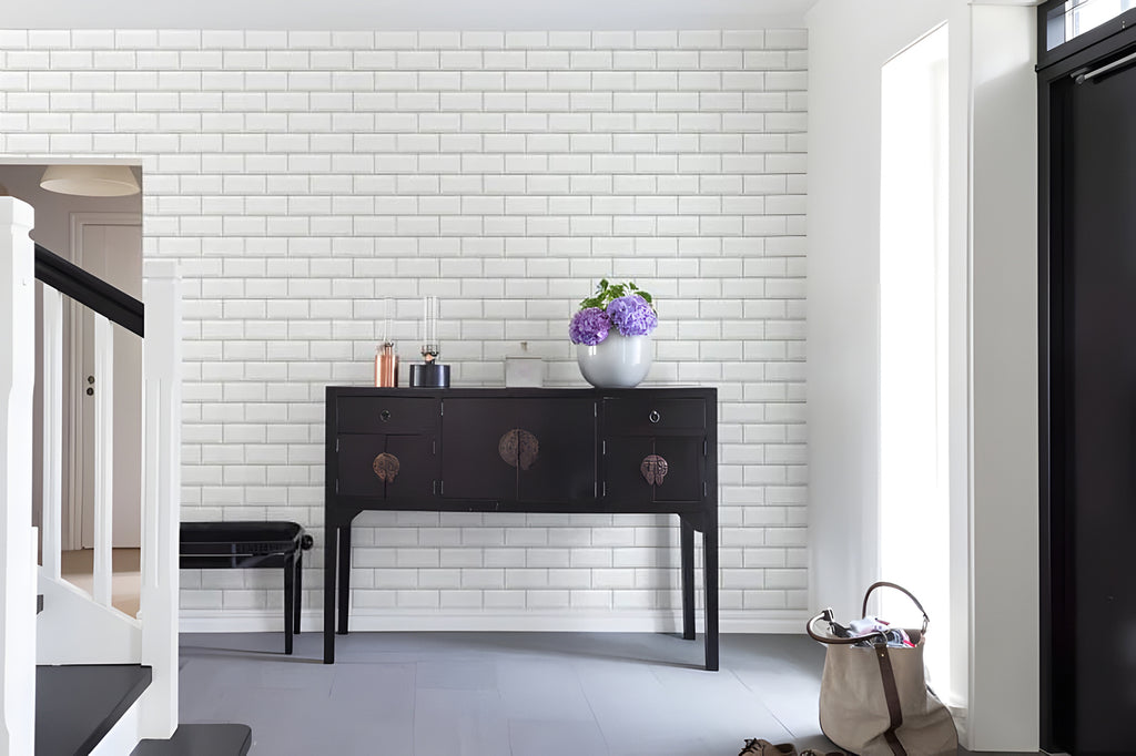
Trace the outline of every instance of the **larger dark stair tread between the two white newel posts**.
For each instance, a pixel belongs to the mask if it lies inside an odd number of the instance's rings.
[[[36,666],[36,756],[90,754],[152,678],[141,664]]]

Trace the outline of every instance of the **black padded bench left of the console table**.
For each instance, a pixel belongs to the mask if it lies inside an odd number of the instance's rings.
[[[295,522],[183,522],[184,570],[284,568],[284,653],[292,653],[292,633],[300,632],[303,552],[312,538]]]

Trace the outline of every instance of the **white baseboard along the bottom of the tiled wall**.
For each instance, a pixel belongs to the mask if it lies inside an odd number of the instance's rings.
[[[800,611],[719,612],[722,633],[803,635],[809,614]],[[283,613],[276,611],[182,610],[182,632],[282,632]],[[323,613],[307,611],[304,632],[323,630]],[[463,610],[352,610],[351,630],[359,631],[466,631],[466,632],[679,632],[682,615],[675,611],[492,611]],[[702,632],[702,613],[695,615]]]

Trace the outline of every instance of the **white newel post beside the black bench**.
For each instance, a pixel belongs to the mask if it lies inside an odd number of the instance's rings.
[[[177,591],[182,447],[182,284],[177,264],[144,263],[145,386],[142,501],[142,663],[153,682],[142,708],[142,737],[177,729]]]

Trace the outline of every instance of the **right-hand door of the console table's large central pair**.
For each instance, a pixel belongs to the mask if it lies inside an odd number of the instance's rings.
[[[517,498],[541,503],[594,501],[595,401],[520,400],[516,408],[515,428],[529,434],[529,443],[536,443],[535,456],[529,452],[526,457],[526,450],[518,450]]]

